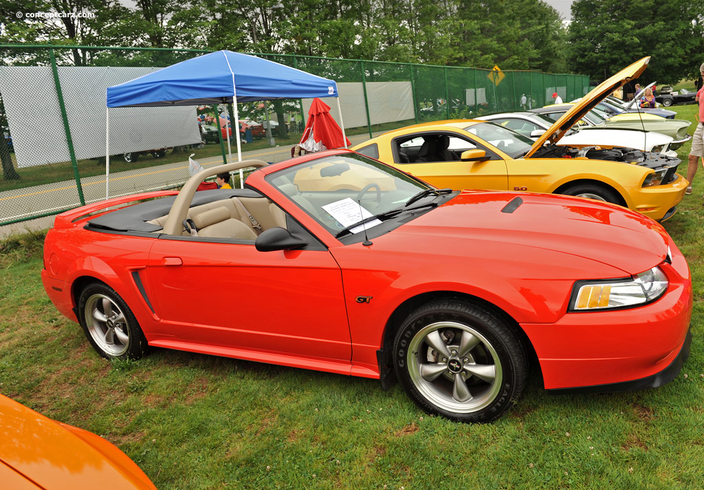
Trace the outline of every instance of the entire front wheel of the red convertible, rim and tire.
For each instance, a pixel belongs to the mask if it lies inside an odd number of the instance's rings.
[[[486,423],[520,396],[527,360],[515,332],[496,314],[444,299],[425,304],[403,322],[394,341],[394,367],[422,410]]]

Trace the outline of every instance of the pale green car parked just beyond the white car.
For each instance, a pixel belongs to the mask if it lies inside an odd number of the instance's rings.
[[[557,121],[567,113],[572,107],[572,104],[546,105],[543,108],[531,109],[530,112],[543,114]],[[582,115],[582,119],[576,122],[580,126],[602,127],[607,129],[640,129],[641,131],[651,131],[662,133],[670,136],[671,150],[677,150],[687,141],[691,140],[692,136],[687,133],[691,122],[680,119],[665,119],[647,114],[619,114],[613,117],[608,117],[605,114],[599,114],[598,110],[590,110]]]

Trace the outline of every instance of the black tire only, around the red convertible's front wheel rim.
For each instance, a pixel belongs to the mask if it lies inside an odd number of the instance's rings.
[[[470,326],[484,335],[496,350],[503,370],[503,380],[499,394],[488,406],[472,413],[447,411],[426,399],[410,379],[406,359],[408,345],[422,328],[438,321],[453,321]],[[393,362],[396,377],[400,380],[403,389],[423,411],[432,415],[441,415],[450,420],[470,423],[487,423],[503,415],[520,396],[527,370],[524,349],[511,328],[491,311],[461,300],[432,302],[410,314],[396,334]]]

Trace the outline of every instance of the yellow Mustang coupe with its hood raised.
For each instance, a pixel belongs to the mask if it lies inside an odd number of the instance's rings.
[[[689,182],[678,158],[633,148],[560,146],[560,138],[599,101],[638,77],[650,57],[610,77],[567,110],[536,142],[477,120],[416,124],[355,147],[438,187],[575,195],[613,202],[662,221]]]

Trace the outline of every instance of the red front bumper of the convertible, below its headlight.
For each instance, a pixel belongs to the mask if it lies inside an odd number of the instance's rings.
[[[655,382],[641,380],[660,373],[658,379],[672,379],[679,368],[670,366],[678,366],[679,357],[684,361],[689,349],[693,300],[689,267],[674,243],[671,249],[672,264],[660,264],[670,285],[657,301],[632,309],[567,313],[551,324],[521,324],[546,389],[629,382],[637,387]]]

